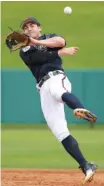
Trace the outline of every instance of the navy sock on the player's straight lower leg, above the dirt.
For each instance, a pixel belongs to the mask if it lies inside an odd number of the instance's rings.
[[[62,141],[62,145],[64,146],[65,150],[79,163],[81,167],[85,165],[87,162],[84,156],[82,155],[78,142],[76,141],[73,136],[69,135]]]

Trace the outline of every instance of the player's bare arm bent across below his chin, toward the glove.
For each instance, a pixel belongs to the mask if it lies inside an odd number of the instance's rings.
[[[29,45],[43,45],[49,48],[54,48],[54,47],[64,47],[66,44],[64,38],[60,36],[54,36],[52,38],[48,38],[45,40],[37,40],[30,38],[30,44]]]

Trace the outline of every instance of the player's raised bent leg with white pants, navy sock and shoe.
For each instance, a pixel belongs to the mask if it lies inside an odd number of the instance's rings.
[[[62,74],[54,76],[50,92],[57,99],[67,104],[67,106],[73,109],[73,113],[78,118],[83,118],[89,122],[95,122],[97,117],[89,110],[85,109],[80,100],[71,92],[71,83],[68,78]],[[56,84],[56,81],[58,82]]]

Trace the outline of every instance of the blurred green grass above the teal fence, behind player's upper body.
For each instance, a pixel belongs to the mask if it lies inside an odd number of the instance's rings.
[[[104,2],[1,2],[2,15],[2,68],[27,68],[18,56],[10,53],[4,41],[10,32],[8,26],[20,29],[20,22],[35,16],[42,24],[43,32],[62,35],[67,46],[79,46],[74,57],[63,57],[64,67],[104,67]],[[71,6],[72,15],[63,13]],[[8,11],[9,10],[9,11]]]

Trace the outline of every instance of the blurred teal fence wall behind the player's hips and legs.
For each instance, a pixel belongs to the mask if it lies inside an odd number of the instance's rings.
[[[104,70],[67,70],[66,74],[72,92],[98,116],[98,123],[104,123]],[[2,70],[1,78],[2,123],[45,123],[31,72]],[[83,122],[67,106],[65,112],[68,123]]]

